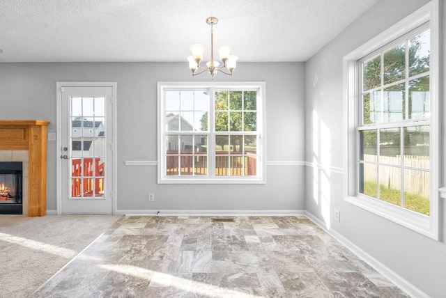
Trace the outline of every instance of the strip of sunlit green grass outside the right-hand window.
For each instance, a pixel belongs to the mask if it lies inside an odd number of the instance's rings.
[[[398,189],[391,189],[385,187],[384,185],[380,185],[379,193],[380,200],[392,203],[394,205],[401,205],[401,192]],[[364,181],[364,194],[376,198],[376,182]],[[404,191],[404,207],[421,214],[430,214],[429,198],[417,194],[410,194],[407,191]]]

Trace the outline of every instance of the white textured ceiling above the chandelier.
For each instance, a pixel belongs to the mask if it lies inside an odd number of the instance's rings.
[[[209,16],[239,62],[307,61],[376,1],[0,0],[0,62],[207,61]]]

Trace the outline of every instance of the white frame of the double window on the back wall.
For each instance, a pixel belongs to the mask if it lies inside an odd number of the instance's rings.
[[[166,151],[166,127],[164,123],[165,107],[164,94],[165,91],[171,90],[203,90],[208,89],[211,93],[215,90],[225,91],[256,91],[257,92],[257,164],[255,176],[217,176],[213,173],[215,169],[215,134],[213,118],[215,113],[214,102],[210,97],[209,107],[209,134],[208,138],[208,173],[203,176],[170,176],[166,175],[166,161],[164,160],[164,152]],[[266,84],[263,81],[254,82],[157,82],[157,182],[158,184],[266,184],[266,152],[265,152],[265,103],[266,103]]]

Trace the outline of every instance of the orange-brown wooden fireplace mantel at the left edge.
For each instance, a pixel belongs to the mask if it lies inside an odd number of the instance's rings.
[[[47,126],[44,120],[0,120],[0,150],[28,150],[28,216],[47,212]]]

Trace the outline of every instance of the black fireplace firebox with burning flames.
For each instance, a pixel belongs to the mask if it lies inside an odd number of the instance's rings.
[[[23,214],[22,162],[0,162],[0,214]]]

